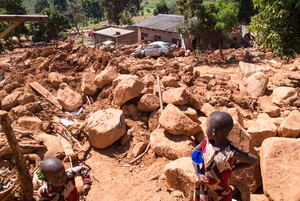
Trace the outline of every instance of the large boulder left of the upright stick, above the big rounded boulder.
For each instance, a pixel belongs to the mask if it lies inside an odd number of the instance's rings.
[[[144,89],[143,82],[136,77],[121,80],[114,89],[114,103],[121,106],[132,98],[138,97]]]

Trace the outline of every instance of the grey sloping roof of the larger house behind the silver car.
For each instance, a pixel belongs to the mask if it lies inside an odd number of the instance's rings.
[[[137,23],[134,26],[168,32],[177,32],[176,27],[181,25],[183,20],[184,17],[181,15],[159,14],[151,19]]]

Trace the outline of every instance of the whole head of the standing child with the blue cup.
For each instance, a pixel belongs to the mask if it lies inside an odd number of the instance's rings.
[[[206,134],[209,140],[225,140],[233,128],[233,119],[227,112],[216,111],[211,113],[206,121]]]

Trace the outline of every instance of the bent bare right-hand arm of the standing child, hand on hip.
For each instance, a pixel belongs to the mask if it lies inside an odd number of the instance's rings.
[[[251,167],[252,165],[255,165],[259,161],[259,159],[253,154],[249,154],[241,150],[237,150],[234,153],[233,159],[237,161],[233,170],[239,170],[242,168]]]

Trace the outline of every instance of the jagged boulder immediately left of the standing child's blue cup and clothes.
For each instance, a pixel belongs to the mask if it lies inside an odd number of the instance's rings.
[[[168,163],[164,172],[168,186],[183,191],[187,200],[190,200],[194,193],[194,183],[197,180],[191,157],[178,158]]]

